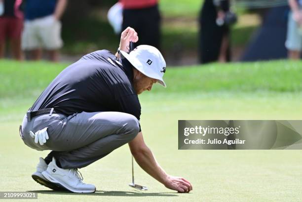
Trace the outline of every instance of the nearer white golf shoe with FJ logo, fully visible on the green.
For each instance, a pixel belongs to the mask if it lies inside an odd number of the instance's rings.
[[[57,166],[55,158],[48,164],[42,175],[52,183],[75,193],[94,193],[95,186],[83,183],[83,177],[77,169],[63,169]]]

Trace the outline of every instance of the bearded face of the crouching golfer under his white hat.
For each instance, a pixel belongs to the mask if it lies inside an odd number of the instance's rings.
[[[133,86],[136,93],[139,95],[145,90],[150,91],[153,83],[156,83],[156,79],[145,76],[142,73],[137,74],[133,79]]]

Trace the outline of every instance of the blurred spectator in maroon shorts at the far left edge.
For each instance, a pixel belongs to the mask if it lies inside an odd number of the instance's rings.
[[[19,9],[21,2],[22,0],[0,0],[0,58],[4,57],[5,40],[8,38],[12,57],[22,60],[23,13]]]

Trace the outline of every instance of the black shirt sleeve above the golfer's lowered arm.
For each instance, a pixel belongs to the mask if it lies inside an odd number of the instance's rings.
[[[141,118],[141,104],[138,99],[138,96],[135,94],[131,95],[121,95],[120,97],[117,98],[117,102],[120,106],[120,110],[123,113],[131,114],[140,121]],[[140,132],[141,130],[141,124],[140,126]]]

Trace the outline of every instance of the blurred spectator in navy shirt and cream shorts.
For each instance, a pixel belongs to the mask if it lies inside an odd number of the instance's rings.
[[[58,49],[62,47],[60,18],[67,0],[26,0],[22,49],[29,52],[30,59],[39,60],[42,49],[49,59],[58,61]]]

